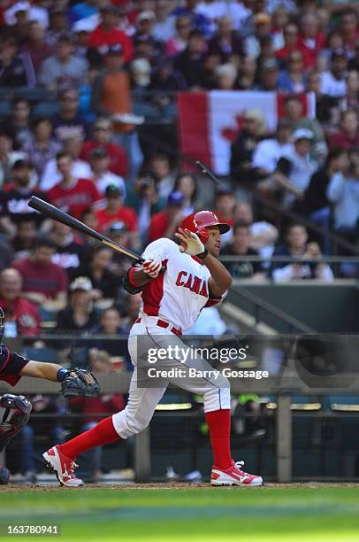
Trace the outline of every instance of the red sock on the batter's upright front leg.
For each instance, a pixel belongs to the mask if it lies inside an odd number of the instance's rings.
[[[210,428],[213,460],[216,467],[231,467],[231,411],[215,410],[206,413],[206,422]]]

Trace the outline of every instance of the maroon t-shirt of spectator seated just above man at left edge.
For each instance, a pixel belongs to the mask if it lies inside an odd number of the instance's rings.
[[[48,298],[56,298],[60,291],[68,286],[67,273],[63,267],[50,263],[49,266],[38,266],[30,258],[19,259],[12,265],[18,269],[23,278],[23,291],[35,291]]]

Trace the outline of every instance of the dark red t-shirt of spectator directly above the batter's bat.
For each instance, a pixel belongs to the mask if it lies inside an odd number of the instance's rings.
[[[70,188],[64,188],[59,182],[49,190],[48,197],[53,205],[77,219],[88,207],[102,199],[95,183],[89,179],[78,179]]]

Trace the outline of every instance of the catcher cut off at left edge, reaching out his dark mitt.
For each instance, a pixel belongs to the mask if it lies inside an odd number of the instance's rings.
[[[66,369],[56,363],[27,360],[17,352],[11,352],[2,343],[5,315],[0,307],[0,381],[15,386],[21,376],[44,378],[61,383],[65,398],[96,397],[100,388],[95,376],[86,369]],[[10,443],[19,430],[27,424],[31,413],[31,403],[23,395],[5,393],[0,396],[0,452]],[[10,471],[0,466],[0,484],[8,484]]]

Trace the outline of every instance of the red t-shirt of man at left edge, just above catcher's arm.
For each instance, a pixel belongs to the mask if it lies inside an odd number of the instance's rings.
[[[19,337],[34,337],[40,334],[42,319],[34,303],[28,299],[17,298],[8,306],[8,303],[0,298],[0,306],[4,309],[7,320],[16,322]]]

